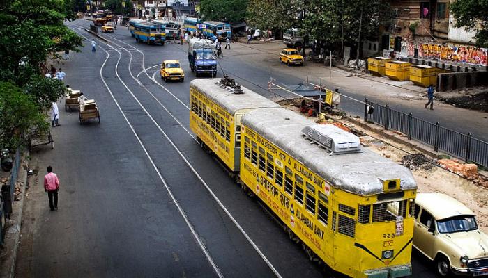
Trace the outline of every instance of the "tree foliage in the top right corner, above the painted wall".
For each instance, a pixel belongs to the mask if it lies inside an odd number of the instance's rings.
[[[449,7],[457,28],[475,30],[478,47],[488,47],[488,0],[457,0]]]

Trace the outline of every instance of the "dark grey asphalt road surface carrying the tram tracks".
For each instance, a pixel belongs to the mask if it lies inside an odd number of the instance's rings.
[[[80,28],[88,25],[68,24],[91,40]],[[189,132],[195,77],[186,46],[138,44],[121,26],[102,35],[111,42],[97,40],[92,53],[86,40],[81,53],[60,65],[66,83],[96,99],[101,123],[79,125],[77,111],[65,112],[59,101],[55,149],[33,154],[40,172],[26,202],[17,277],[323,277]],[[169,58],[183,64],[184,83],[158,76]],[[264,90],[266,69],[238,55],[220,65],[246,87],[275,97]],[[47,165],[61,180],[56,212],[42,190]],[[434,277],[425,261],[414,253],[413,277]]]

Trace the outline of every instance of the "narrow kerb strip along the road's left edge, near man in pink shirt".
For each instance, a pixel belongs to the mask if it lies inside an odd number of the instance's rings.
[[[27,156],[29,156],[29,149],[26,149],[20,158],[20,169],[18,172],[17,181],[22,181],[24,184],[20,187],[22,188],[22,199],[13,202],[13,216],[8,221],[11,224],[9,224],[6,231],[5,244],[3,245],[6,253],[3,254],[4,259],[1,262],[0,277],[2,278],[14,277],[15,263],[17,262],[17,251],[19,250],[20,242],[22,211],[24,210],[25,190],[27,186],[27,170],[29,169],[29,161],[26,159]]]

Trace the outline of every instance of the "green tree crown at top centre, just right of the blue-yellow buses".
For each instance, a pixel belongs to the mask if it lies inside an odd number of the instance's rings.
[[[247,26],[261,30],[283,31],[296,22],[301,7],[291,0],[250,0],[247,5]]]

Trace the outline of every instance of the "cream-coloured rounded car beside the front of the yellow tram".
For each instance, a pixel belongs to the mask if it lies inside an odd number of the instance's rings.
[[[440,276],[488,275],[488,236],[473,211],[448,195],[420,193],[414,217],[413,247],[435,262]]]

